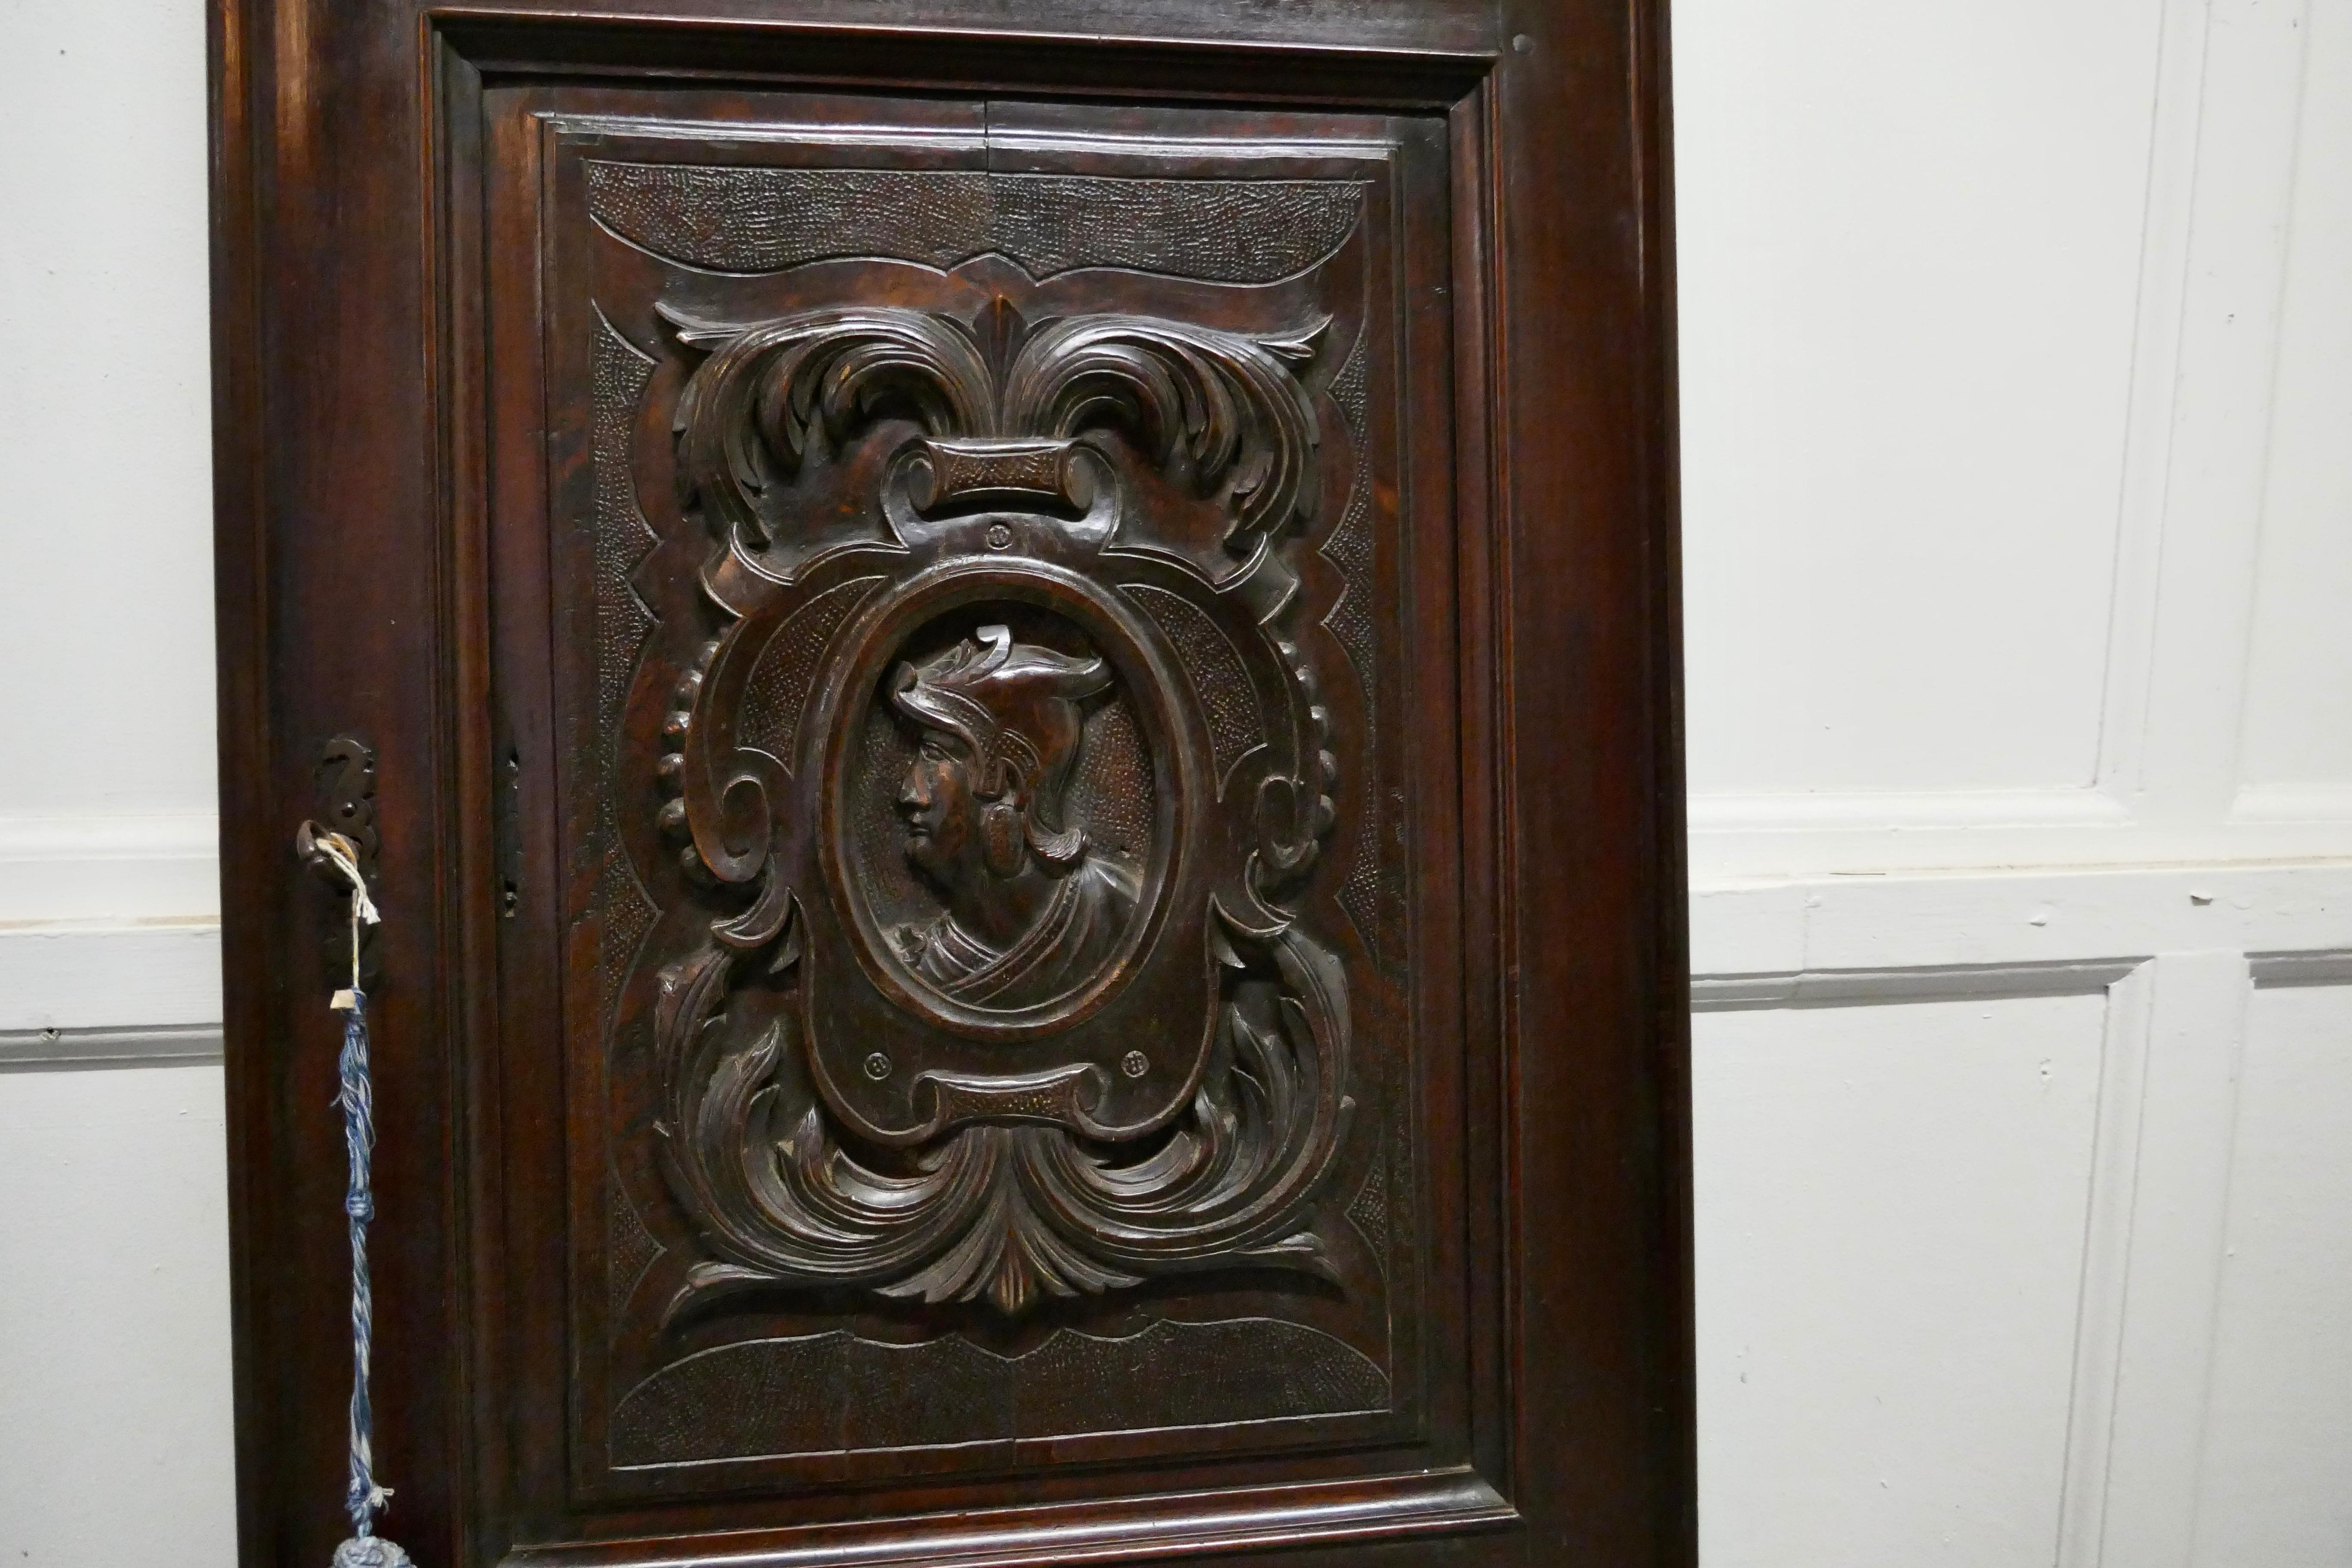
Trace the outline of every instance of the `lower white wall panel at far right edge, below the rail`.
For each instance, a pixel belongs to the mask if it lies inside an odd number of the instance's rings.
[[[2352,1563],[2352,985],[2246,1018],[2199,1568]]]

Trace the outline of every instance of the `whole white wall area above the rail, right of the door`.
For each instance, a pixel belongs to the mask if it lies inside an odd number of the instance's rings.
[[[1677,5],[1705,875],[2345,853],[2345,26]]]

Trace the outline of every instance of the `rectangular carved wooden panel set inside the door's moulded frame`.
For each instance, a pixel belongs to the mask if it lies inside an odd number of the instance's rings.
[[[546,122],[586,1486],[1416,1427],[1399,132],[1348,129]]]

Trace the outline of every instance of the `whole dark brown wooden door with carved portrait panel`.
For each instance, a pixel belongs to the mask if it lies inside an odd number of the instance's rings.
[[[219,0],[247,1561],[329,736],[416,1561],[1689,1561],[1661,21],[687,9]]]

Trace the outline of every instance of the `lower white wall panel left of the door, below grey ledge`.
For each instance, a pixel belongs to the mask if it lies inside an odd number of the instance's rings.
[[[0,1563],[238,1561],[219,1067],[0,1072]]]

